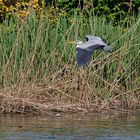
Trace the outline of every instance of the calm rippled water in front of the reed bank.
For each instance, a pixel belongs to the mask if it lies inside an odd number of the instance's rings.
[[[140,140],[140,114],[0,116],[0,140]]]

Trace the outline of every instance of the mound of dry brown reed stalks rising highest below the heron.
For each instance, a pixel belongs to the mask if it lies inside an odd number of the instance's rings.
[[[139,89],[123,91],[116,84],[114,86],[114,82],[100,77],[99,71],[103,68],[104,65],[97,70],[89,67],[77,70],[76,73],[71,73],[70,70],[64,73],[63,77],[58,77],[62,73],[60,70],[52,76],[51,80],[46,78],[41,82],[34,82],[34,84],[24,83],[22,87],[19,85],[5,88],[0,93],[0,111],[6,113],[51,113],[125,110],[126,108],[123,107],[124,97],[127,97],[127,110],[136,109],[139,105],[137,99]],[[101,83],[104,85],[103,89],[98,87],[101,86]],[[104,92],[113,93],[108,96]]]

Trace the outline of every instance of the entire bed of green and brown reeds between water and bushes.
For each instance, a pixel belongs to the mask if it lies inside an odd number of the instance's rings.
[[[140,108],[140,18],[113,26],[93,13],[11,17],[0,24],[0,112],[100,112]],[[76,66],[71,40],[102,36],[112,53],[97,50]]]

